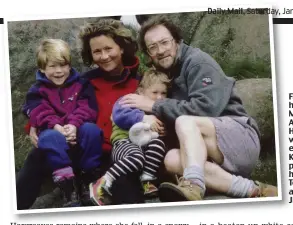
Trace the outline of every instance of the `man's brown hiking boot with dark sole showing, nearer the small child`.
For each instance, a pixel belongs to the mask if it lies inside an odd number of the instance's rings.
[[[184,177],[180,177],[178,185],[165,182],[159,187],[159,197],[162,202],[198,201],[203,199],[203,195],[198,185]]]

